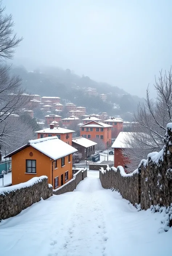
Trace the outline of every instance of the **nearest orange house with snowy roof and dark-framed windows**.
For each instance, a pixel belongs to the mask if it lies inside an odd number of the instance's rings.
[[[12,158],[12,185],[46,175],[53,189],[62,186],[72,179],[72,154],[76,151],[57,137],[29,141],[5,157]]]

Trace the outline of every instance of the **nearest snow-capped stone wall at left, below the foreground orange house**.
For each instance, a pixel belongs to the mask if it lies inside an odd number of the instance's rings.
[[[0,220],[19,214],[22,210],[53,195],[48,178],[41,176],[28,182],[0,188]]]

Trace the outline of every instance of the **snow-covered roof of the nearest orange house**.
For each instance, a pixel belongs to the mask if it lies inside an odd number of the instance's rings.
[[[77,149],[74,149],[74,147],[58,139],[56,136],[35,139],[29,141],[29,145],[53,160],[65,157],[66,155],[73,154],[74,152],[78,151]]]

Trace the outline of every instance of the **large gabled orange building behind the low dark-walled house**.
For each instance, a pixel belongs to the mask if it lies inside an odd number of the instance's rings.
[[[106,148],[111,145],[111,127],[105,123],[91,121],[80,126],[80,136],[91,139],[102,139]]]

